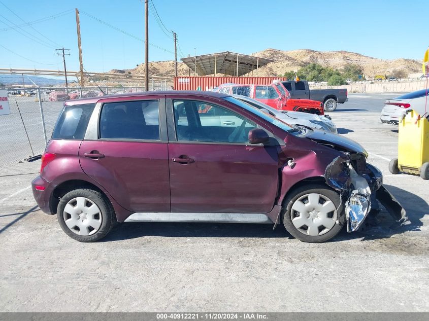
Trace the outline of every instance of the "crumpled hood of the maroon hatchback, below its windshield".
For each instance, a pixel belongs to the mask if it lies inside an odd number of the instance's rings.
[[[339,134],[334,134],[319,129],[313,129],[309,130],[303,136],[305,138],[318,142],[319,144],[332,145],[334,146],[334,148],[338,148],[340,151],[361,153],[368,157],[368,152],[358,142],[341,136]]]

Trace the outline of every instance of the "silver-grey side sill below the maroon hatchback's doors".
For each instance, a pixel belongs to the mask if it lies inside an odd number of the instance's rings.
[[[266,214],[259,213],[171,213],[137,212],[125,222],[212,222],[273,224]]]

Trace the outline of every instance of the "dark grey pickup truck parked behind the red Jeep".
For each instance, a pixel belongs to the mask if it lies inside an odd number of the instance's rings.
[[[282,84],[289,91],[292,98],[312,99],[321,101],[326,112],[333,112],[337,109],[338,103],[348,100],[347,89],[312,89],[306,80],[282,81]]]

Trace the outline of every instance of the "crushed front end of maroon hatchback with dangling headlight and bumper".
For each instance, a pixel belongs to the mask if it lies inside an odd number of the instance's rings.
[[[355,160],[357,162],[353,164],[357,169],[347,157],[339,156],[326,167],[324,175],[326,184],[340,192],[341,201],[345,204],[347,232],[356,231],[364,223],[372,205],[378,208],[377,200],[395,221],[405,221],[405,209],[383,186],[380,170],[366,164],[364,156],[358,156]]]

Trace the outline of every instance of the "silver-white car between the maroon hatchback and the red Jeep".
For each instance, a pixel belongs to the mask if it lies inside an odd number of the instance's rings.
[[[242,95],[233,95],[233,97],[248,103],[249,105],[266,112],[277,119],[280,119],[287,124],[303,125],[311,128],[317,128],[321,130],[326,130],[329,132],[337,133],[337,127],[334,122],[329,119],[328,115],[319,116],[315,114],[302,113],[302,112],[289,112],[289,111],[279,111],[275,108],[272,108],[269,105],[266,105],[255,99],[242,96]],[[326,117],[327,116],[327,117]]]

